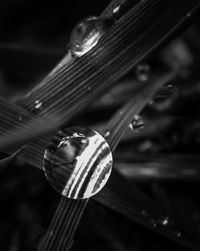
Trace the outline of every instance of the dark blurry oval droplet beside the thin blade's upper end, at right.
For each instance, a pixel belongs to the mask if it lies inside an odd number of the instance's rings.
[[[177,92],[176,89],[174,88],[174,85],[168,84],[163,86],[158,91],[151,105],[154,109],[158,111],[163,111],[168,109],[172,105],[176,97],[177,97]]]

